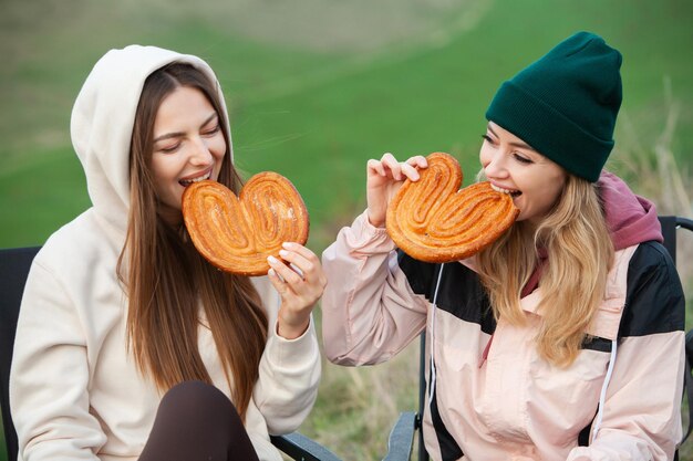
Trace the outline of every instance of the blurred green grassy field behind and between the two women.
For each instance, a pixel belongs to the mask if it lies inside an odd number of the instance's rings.
[[[95,61],[131,43],[209,62],[237,166],[293,181],[320,253],[363,209],[369,158],[448,151],[468,184],[501,81],[593,31],[624,56],[609,167],[690,217],[691,24],[690,0],[0,0],[0,248],[40,244],[89,207],[70,111]],[[415,355],[325,364],[303,431],[345,459],[382,457],[393,418],[415,406]]]

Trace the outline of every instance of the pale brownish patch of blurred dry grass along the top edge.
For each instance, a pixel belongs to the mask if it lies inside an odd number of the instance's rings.
[[[200,4],[201,3],[201,4]],[[319,53],[439,40],[476,23],[488,0],[148,0],[147,11],[199,18],[260,43]],[[141,12],[139,2],[126,2]]]

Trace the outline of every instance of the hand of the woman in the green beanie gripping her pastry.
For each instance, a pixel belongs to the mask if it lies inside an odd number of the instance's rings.
[[[417,155],[406,161],[397,161],[390,153],[380,160],[371,159],[366,164],[366,198],[368,214],[371,224],[376,228],[385,226],[387,203],[406,179],[416,181],[418,168],[426,168],[426,158]]]

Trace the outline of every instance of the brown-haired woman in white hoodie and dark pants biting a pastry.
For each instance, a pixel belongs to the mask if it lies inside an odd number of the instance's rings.
[[[281,460],[269,434],[297,429],[317,395],[325,279],[297,243],[281,256],[302,276],[278,260],[236,276],[195,251],[185,187],[241,187],[214,72],[154,46],[112,50],[71,132],[93,206],[27,281],[10,377],[19,459]]]

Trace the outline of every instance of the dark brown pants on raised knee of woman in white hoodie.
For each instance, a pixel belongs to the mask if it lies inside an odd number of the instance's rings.
[[[186,381],[159,404],[139,461],[257,461],[236,408],[214,386]]]

